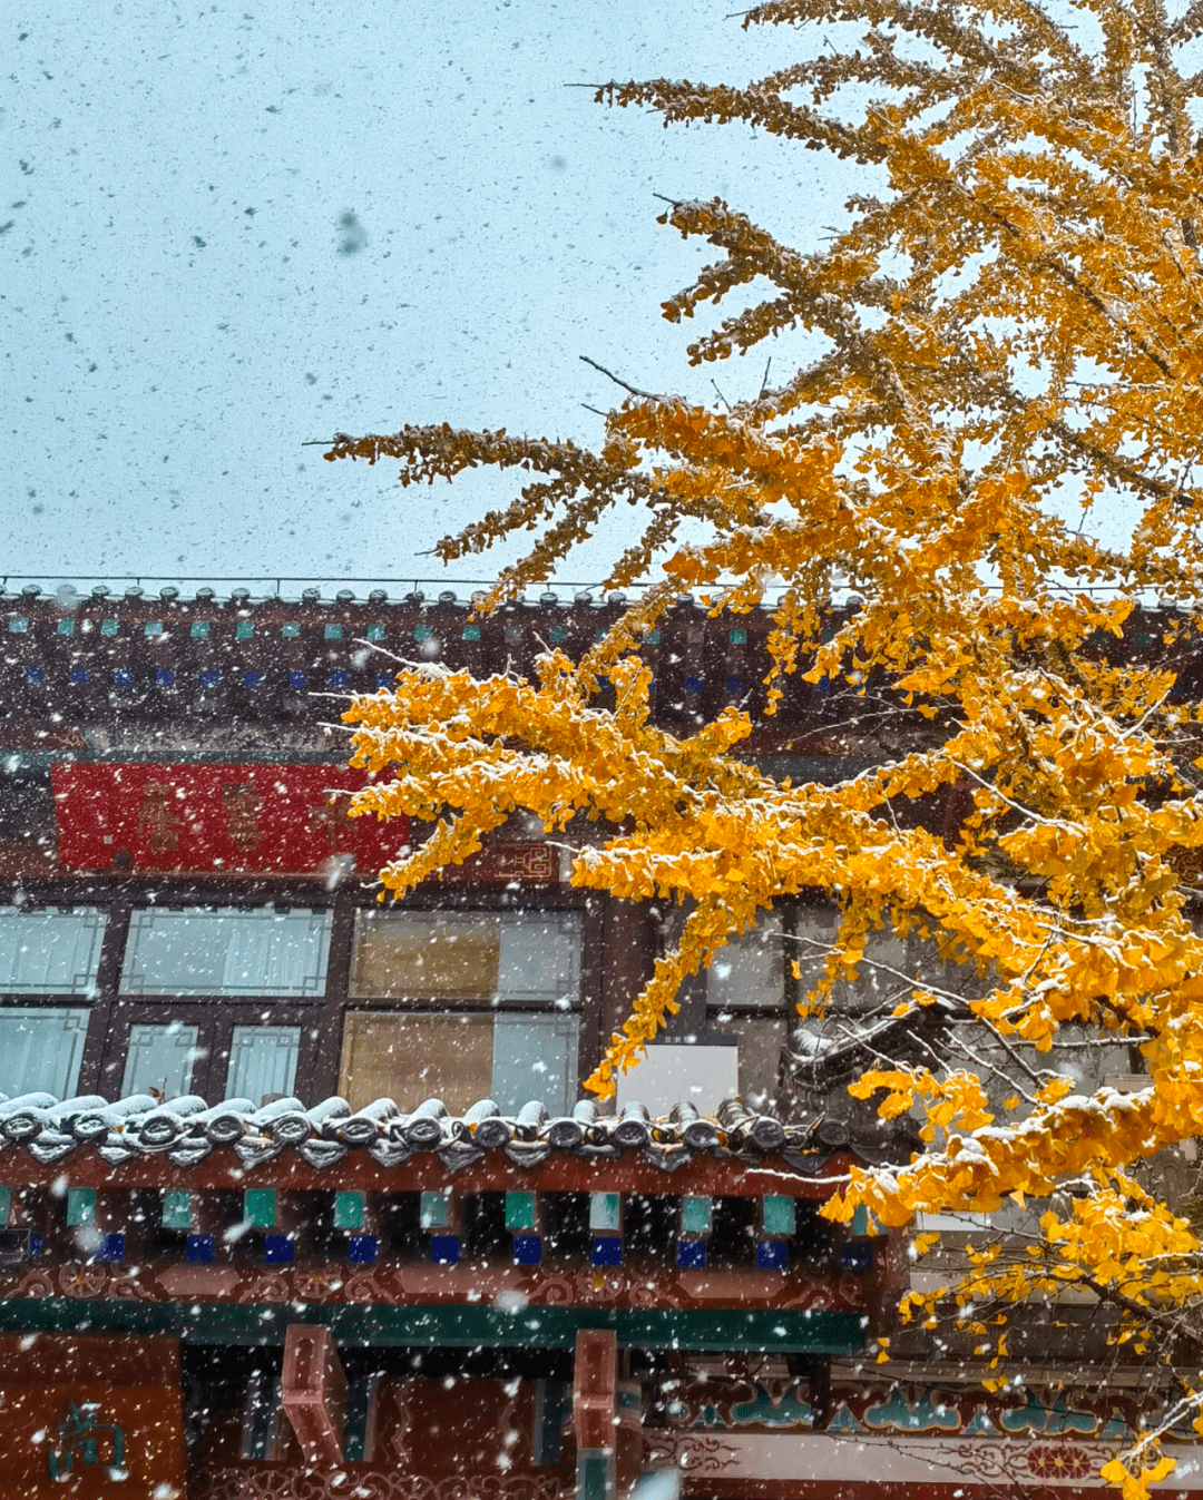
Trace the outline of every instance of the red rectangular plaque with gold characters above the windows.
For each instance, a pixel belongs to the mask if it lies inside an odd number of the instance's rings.
[[[366,771],[345,765],[57,762],[58,858],[66,870],[172,874],[374,873],[405,844],[408,820],[348,818]]]

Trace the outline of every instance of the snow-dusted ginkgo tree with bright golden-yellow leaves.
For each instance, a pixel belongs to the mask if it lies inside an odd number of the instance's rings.
[[[438,548],[452,562],[536,534],[486,609],[554,576],[624,502],[645,525],[608,586],[651,580],[584,657],[548,651],[537,680],[414,664],[357,698],[356,764],[388,774],[354,810],[435,824],[382,872],[394,896],[522,808],[549,830],[580,813],[609,825],[576,855],[576,885],[686,903],[680,945],[590,1080],[602,1095],[682,978],[774,903],[813,888],[838,902],[814,1011],[874,930],[928,938],[978,978],[966,1014],[1012,1059],[1014,1089],[992,1102],[981,1070],[951,1059],[866,1071],[854,1094],[886,1116],[921,1110],[924,1148],[854,1172],[831,1212],[904,1226],[1042,1202],[1018,1258],[984,1251],[950,1293],[962,1323],[990,1299],[1077,1284],[1120,1310],[1120,1336],[1142,1329],[1170,1359],[1158,1330],[1203,1338],[1182,1320],[1203,1312],[1203,1244],[1138,1168],[1203,1131],[1185,874],[1203,846],[1203,705],[1173,669],[1198,648],[1203,591],[1203,0],[1176,15],[1161,0],[774,0],[744,24],[796,27],[801,60],[747,87],[657,80],[597,98],[664,124],[750,123],[866,168],[819,248],[790,249],[720,200],[662,216],[717,250],[663,304],[669,321],[771,286],[716,316],[692,364],[789,333],[812,352],[729,406],[632,387],[594,450],[448,426],[339,436],[328,459],[393,459],[402,484],[526,472],[508,508]],[[832,634],[836,579],[861,603]],[[681,591],[716,614],[772,592],[768,712],[790,674],[872,672],[930,718],[924,748],[790,784],[738,759],[736,710],[666,732],[639,646]],[[1168,657],[1131,660],[1125,620],[1154,597]],[[954,838],[890,816],[954,786]],[[939,999],[915,975],[898,1016]],[[1077,1092],[1053,1065],[1066,1028],[1138,1048],[1146,1086]],[[933,1298],[909,1311],[939,1316]],[[1176,1422],[1198,1412],[1182,1395]],[[1138,1496],[1167,1462],[1150,1432],[1108,1478]]]

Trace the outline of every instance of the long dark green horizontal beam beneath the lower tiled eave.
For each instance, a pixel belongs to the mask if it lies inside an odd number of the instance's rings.
[[[261,1346],[284,1344],[288,1324],[297,1322],[326,1324],[339,1344],[378,1347],[471,1348],[478,1344],[494,1348],[572,1348],[582,1328],[612,1328],[620,1344],[638,1348],[854,1354],[864,1347],[864,1326],[856,1312],[603,1306],[502,1312],[478,1304],[315,1304],[298,1310],[296,1302],[0,1300],[0,1329],[6,1332],[76,1332],[87,1328],[102,1334],[174,1334],[194,1344]]]

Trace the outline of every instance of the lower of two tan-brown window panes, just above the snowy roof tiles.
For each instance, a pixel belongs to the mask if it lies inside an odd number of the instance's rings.
[[[492,1016],[350,1011],[339,1094],[356,1110],[380,1098],[402,1110],[436,1098],[462,1114],[489,1096],[492,1068]]]

